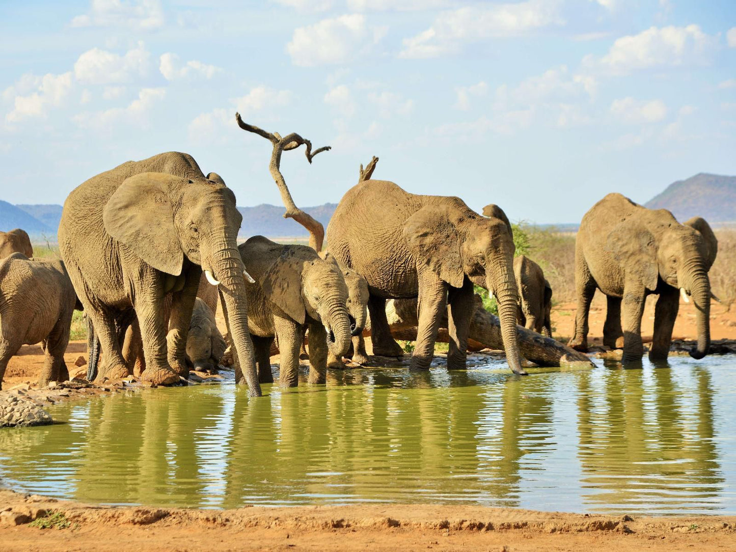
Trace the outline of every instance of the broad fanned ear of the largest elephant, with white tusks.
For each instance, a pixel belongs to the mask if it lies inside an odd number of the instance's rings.
[[[102,211],[110,236],[153,268],[174,276],[182,272],[184,253],[168,191],[182,180],[161,172],[136,174],[120,185]]]

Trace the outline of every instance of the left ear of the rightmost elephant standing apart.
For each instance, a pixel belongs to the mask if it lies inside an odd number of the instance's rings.
[[[637,277],[648,290],[657,289],[657,246],[643,225],[631,219],[616,224],[608,235],[606,250],[624,267],[626,277]]]

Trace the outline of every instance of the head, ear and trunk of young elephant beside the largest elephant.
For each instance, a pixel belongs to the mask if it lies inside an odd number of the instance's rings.
[[[302,247],[308,254],[301,254]],[[322,322],[331,353],[347,353],[351,325],[347,286],[335,264],[322,261],[311,247],[291,246],[263,275],[261,287],[266,297],[297,323],[303,325],[307,316]]]

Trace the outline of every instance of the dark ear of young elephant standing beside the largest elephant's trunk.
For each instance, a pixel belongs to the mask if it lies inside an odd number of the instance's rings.
[[[304,324],[306,316],[302,297],[303,263],[285,251],[261,277],[261,289],[266,297],[299,324]]]

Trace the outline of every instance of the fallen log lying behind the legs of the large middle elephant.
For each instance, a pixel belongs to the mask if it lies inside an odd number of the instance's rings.
[[[417,339],[417,300],[400,299],[386,302],[386,318],[389,320],[391,334],[395,339],[414,341]],[[540,367],[570,366],[583,363],[592,367],[593,363],[586,355],[556,342],[550,337],[527,330],[517,325],[519,349],[524,358]],[[369,330],[368,330],[369,331]],[[369,333],[363,332],[363,335]],[[438,342],[447,342],[447,316],[440,323]],[[481,297],[475,295],[475,310],[470,322],[469,350],[484,348],[503,350],[500,322],[498,317],[490,314],[483,308]]]

